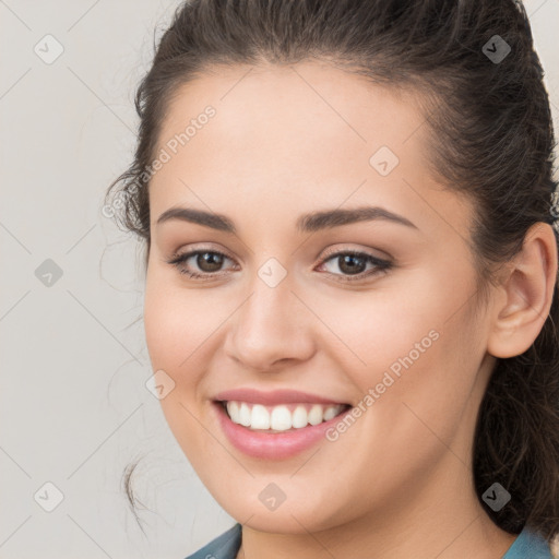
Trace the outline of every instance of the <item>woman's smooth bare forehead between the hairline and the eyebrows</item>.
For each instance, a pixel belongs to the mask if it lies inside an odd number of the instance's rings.
[[[428,173],[419,106],[409,93],[332,66],[213,67],[168,105],[157,145],[168,160],[151,181],[152,214],[181,201],[227,213],[239,200],[287,211],[290,200],[293,215],[295,206],[348,200],[402,213],[415,203],[429,218],[441,197],[464,214],[463,201]]]

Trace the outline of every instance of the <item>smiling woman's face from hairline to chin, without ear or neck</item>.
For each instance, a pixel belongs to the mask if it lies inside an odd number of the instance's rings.
[[[428,147],[413,97],[317,63],[219,69],[170,104],[147,346],[178,443],[240,522],[302,533],[471,502],[495,360],[472,205]]]

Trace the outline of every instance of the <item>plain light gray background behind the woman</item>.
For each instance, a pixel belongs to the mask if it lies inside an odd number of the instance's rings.
[[[145,388],[140,246],[100,211],[178,3],[0,0],[0,559],[181,559],[234,522]],[[559,135],[559,0],[525,5]],[[63,47],[50,64],[34,51],[47,34]],[[51,286],[35,275],[47,259]],[[120,489],[141,456],[145,535]],[[48,481],[63,493],[51,512]]]

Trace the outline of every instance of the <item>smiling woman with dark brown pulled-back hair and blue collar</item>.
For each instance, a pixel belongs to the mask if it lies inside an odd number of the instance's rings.
[[[110,193],[165,417],[238,521],[192,559],[551,557],[542,78],[513,0],[179,7]]]

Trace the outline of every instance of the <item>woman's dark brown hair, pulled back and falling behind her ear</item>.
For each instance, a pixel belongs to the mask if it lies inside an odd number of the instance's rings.
[[[499,61],[488,56],[495,40],[510,47]],[[549,99],[520,2],[193,0],[177,9],[156,47],[135,97],[134,160],[107,192],[124,197],[118,223],[145,239],[147,252],[145,169],[178,86],[214,64],[311,58],[421,94],[433,173],[477,209],[472,241],[481,285],[522,248],[532,225],[552,223]],[[527,525],[548,540],[559,532],[558,299],[556,283],[534,344],[498,359],[474,437],[475,484],[488,514],[509,533]],[[481,500],[495,481],[512,496],[499,512]]]

